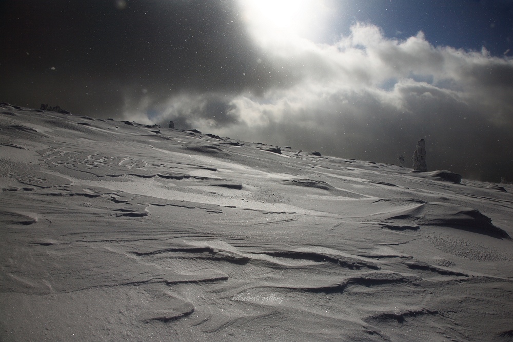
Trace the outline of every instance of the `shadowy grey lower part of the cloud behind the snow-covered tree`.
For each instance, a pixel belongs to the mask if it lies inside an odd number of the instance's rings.
[[[431,170],[451,169],[496,181],[508,177],[511,126],[491,123],[458,98],[437,91],[426,96],[429,91],[416,85],[398,90],[407,113],[384,103],[375,92],[352,92],[306,106],[300,113],[283,110],[280,119],[270,117],[264,126],[239,127],[238,134],[232,130],[226,135],[397,165],[404,155],[407,166],[417,141],[425,138]]]

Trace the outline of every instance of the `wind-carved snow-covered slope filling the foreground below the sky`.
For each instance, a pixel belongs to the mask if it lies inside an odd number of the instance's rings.
[[[513,336],[511,185],[6,104],[0,128],[0,340]]]

